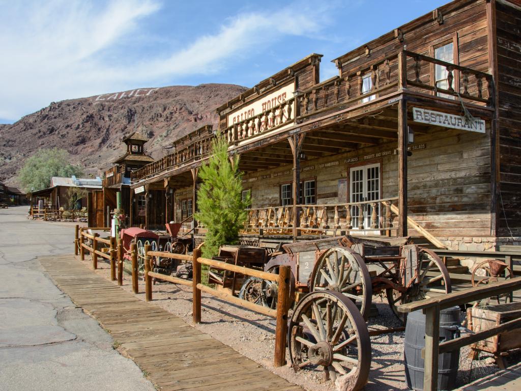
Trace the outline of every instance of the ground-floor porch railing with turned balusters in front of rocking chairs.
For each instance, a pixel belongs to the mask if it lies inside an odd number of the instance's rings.
[[[296,205],[298,235],[336,235],[339,231],[379,234],[395,230],[391,205],[398,198],[339,204]],[[293,205],[249,211],[243,234],[292,235]]]

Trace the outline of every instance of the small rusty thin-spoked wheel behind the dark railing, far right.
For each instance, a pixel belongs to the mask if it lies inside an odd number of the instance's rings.
[[[471,281],[472,286],[477,287],[479,285],[502,282],[511,278],[514,278],[514,273],[512,272],[512,269],[506,265],[506,263],[497,260],[486,260],[479,263],[474,268],[472,271]],[[510,293],[507,292],[499,296],[488,297],[476,304],[481,306],[488,306],[491,299],[493,299],[494,303],[497,304],[505,304],[512,301]]]

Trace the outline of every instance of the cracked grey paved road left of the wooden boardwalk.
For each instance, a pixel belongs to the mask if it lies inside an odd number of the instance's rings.
[[[26,206],[0,209],[0,389],[153,391],[36,260],[72,252],[73,225],[26,214]]]

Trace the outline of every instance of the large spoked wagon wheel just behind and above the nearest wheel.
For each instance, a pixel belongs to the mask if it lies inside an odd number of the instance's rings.
[[[320,255],[309,288],[341,292],[355,302],[367,320],[373,296],[371,277],[362,256],[350,248],[332,247]]]

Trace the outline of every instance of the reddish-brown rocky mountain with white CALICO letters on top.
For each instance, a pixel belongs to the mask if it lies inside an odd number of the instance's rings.
[[[0,125],[0,181],[17,185],[24,160],[42,148],[65,149],[71,163],[100,175],[125,152],[123,136],[137,129],[150,138],[145,151],[154,158],[172,152],[172,141],[208,124],[217,128],[215,108],[239,95],[233,84],[141,88],[53,102]]]

